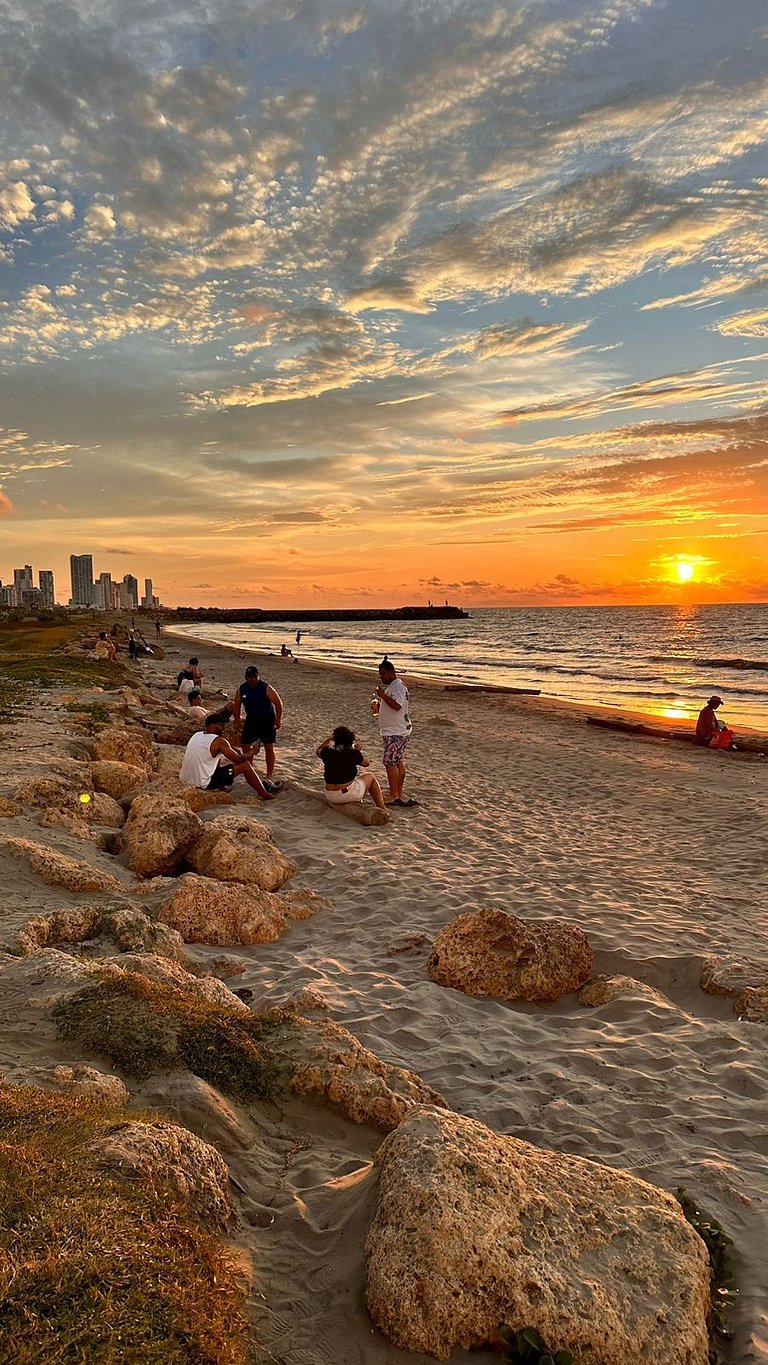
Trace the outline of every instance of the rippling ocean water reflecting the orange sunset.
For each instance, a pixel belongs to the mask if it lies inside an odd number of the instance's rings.
[[[412,677],[540,688],[543,696],[768,732],[768,605],[488,607],[467,621],[318,621],[173,627],[259,652],[375,669],[386,652]],[[296,646],[296,631],[301,643]]]

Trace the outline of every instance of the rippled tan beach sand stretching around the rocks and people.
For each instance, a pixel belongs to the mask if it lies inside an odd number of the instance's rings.
[[[346,723],[383,778],[368,710],[372,673],[168,633],[162,643],[162,662],[138,665],[153,689],[196,652],[206,693],[232,695],[255,658],[285,702],[277,777],[319,788],[315,747]],[[768,1029],[739,1021],[731,1001],[698,986],[707,954],[765,957],[768,760],[592,729],[577,708],[540,699],[407,681],[415,725],[407,794],[419,807],[364,829],[291,789],[266,805],[261,818],[299,867],[295,885],[329,905],[277,943],[229,950],[246,968],[232,984],[254,991],[254,1007],[311,987],[333,1018],[416,1070],[462,1114],[664,1189],[685,1185],[735,1242],[741,1295],[727,1358],[768,1360]],[[57,723],[41,710],[46,743]],[[37,770],[34,734],[29,745]],[[18,766],[5,745],[0,793],[10,794]],[[0,833],[82,852],[64,831],[26,819],[0,820]],[[16,910],[19,897],[26,913],[46,900],[53,908],[50,889],[33,889],[15,860],[1,861],[16,879]],[[483,906],[574,920],[599,972],[636,977],[656,995],[596,1009],[576,996],[518,1006],[432,984],[426,961],[435,934]],[[206,962],[222,950],[190,951]],[[52,1047],[56,1061],[67,1059],[49,1036],[35,1040],[18,1028],[14,1047],[31,1062]],[[207,1121],[184,1093],[173,1097],[157,1082],[134,1093],[164,1102],[206,1136]],[[256,1360],[405,1358],[372,1328],[363,1304],[379,1134],[295,1106],[273,1123],[220,1138],[244,1192],[263,1294]],[[491,1358],[453,1357],[467,1365]]]

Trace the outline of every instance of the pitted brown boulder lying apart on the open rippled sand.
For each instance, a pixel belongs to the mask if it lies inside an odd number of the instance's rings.
[[[499,1001],[558,1001],[588,980],[595,956],[577,924],[505,910],[458,915],[438,934],[427,971],[438,986]]]

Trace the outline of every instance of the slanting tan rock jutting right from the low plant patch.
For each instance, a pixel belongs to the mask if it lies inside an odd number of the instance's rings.
[[[291,1089],[333,1104],[353,1123],[389,1133],[417,1104],[446,1106],[420,1076],[382,1062],[331,1020],[291,1017],[269,1047],[291,1066]]]

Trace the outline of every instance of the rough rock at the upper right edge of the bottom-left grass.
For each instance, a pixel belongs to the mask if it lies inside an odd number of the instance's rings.
[[[168,1192],[207,1227],[225,1227],[235,1216],[221,1156],[175,1123],[121,1123],[97,1138],[91,1151],[101,1170]]]

